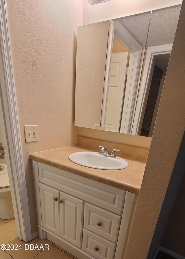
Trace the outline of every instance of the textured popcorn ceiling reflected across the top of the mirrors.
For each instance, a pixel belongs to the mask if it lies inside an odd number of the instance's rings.
[[[142,45],[173,43],[181,5],[116,19]],[[151,21],[150,21],[151,16]],[[150,23],[150,26],[149,26]],[[149,27],[149,34],[147,38]]]

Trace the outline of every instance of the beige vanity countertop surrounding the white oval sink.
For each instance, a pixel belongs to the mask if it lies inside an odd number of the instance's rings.
[[[63,147],[59,149],[52,149],[31,153],[29,158],[38,162],[81,175],[83,177],[101,182],[119,189],[127,190],[132,193],[138,194],[140,191],[143,174],[145,171],[146,162],[139,160],[132,160],[122,156],[129,166],[121,170],[102,170],[94,169],[86,166],[81,166],[71,162],[68,156],[74,152],[80,151],[95,151],[79,146]]]

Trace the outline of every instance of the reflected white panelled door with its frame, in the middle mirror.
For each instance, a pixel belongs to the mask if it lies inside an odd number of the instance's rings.
[[[120,22],[123,21],[120,19]],[[109,80],[103,91],[101,129],[127,133],[143,47],[120,22],[114,21],[114,29],[109,32],[114,34],[114,40],[111,42],[111,63],[106,63]]]

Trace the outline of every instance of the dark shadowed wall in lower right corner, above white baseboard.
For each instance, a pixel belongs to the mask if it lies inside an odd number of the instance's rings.
[[[185,178],[182,181],[185,172],[184,150],[185,133],[173,167],[147,259],[153,258],[160,246],[181,256],[185,255],[185,207],[183,204],[185,197]]]

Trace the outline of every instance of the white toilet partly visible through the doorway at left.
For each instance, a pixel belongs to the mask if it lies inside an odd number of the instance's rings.
[[[14,217],[14,210],[7,166],[0,164],[0,169],[2,169],[0,171],[0,219],[11,219]]]

